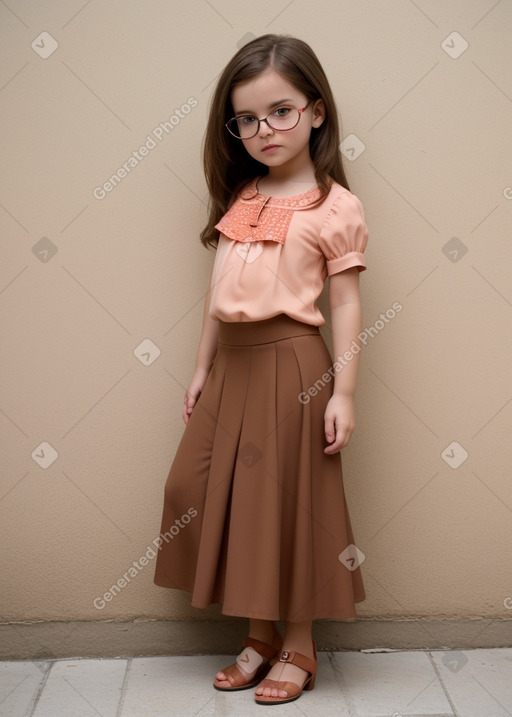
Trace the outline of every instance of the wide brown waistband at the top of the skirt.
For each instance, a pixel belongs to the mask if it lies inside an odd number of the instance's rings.
[[[293,336],[320,336],[318,326],[292,319],[287,314],[278,314],[261,321],[219,320],[219,343],[231,346],[266,344]]]

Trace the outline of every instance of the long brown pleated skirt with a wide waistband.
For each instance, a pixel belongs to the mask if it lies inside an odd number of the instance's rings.
[[[356,616],[361,571],[339,558],[354,544],[341,458],[324,453],[334,381],[318,381],[331,365],[318,327],[285,314],[219,322],[165,485],[157,585],[226,615]]]

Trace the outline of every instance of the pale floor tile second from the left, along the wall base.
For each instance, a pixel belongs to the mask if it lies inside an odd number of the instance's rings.
[[[126,663],[126,660],[57,660],[34,717],[116,717]]]

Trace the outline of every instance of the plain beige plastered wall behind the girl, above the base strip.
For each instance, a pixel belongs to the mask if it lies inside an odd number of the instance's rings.
[[[345,161],[370,229],[365,327],[402,307],[362,353],[358,424],[343,452],[366,556],[358,613],[510,617],[511,4],[9,7],[0,8],[3,619],[218,614],[155,587],[152,559],[104,609],[93,600],[159,533],[214,258],[198,241],[208,102],[240,41],[269,31],[317,51],[343,137],[366,146]],[[31,47],[43,31],[58,43],[46,59],[48,38]],[[96,198],[171,117],[172,131],[160,129]],[[155,359],[150,347],[150,365],[136,356],[148,339],[160,351]],[[462,448],[447,450],[453,442]]]

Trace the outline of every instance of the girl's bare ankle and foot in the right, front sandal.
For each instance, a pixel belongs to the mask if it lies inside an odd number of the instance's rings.
[[[283,642],[283,652],[298,652],[301,655],[315,659],[313,639],[311,636],[311,620],[305,622],[287,622],[286,635]],[[271,668],[267,677],[256,688],[256,698],[277,697],[285,699],[289,697],[289,690],[286,689],[286,682],[292,682],[302,689],[308,678],[306,670],[289,663],[276,662]],[[268,682],[272,680],[273,683]],[[283,683],[277,685],[276,682]],[[299,692],[300,694],[300,692]]]

